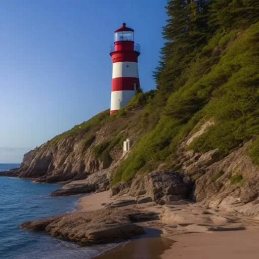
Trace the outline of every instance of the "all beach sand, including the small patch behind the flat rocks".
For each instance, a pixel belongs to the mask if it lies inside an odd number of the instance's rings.
[[[92,211],[96,209],[104,208],[104,204],[115,201],[116,198],[109,197],[109,192],[101,192],[96,194],[91,194],[84,196],[80,199],[79,209],[81,211]],[[149,207],[143,205],[145,209],[161,210],[161,206]],[[178,206],[178,205],[177,205]],[[185,211],[186,208],[176,206],[179,211]],[[201,208],[196,208],[197,212]],[[192,208],[192,211],[193,208]],[[189,213],[189,212],[188,212]],[[168,212],[167,212],[168,214]],[[195,214],[195,213],[193,213]],[[197,213],[196,213],[197,214]],[[178,215],[179,217],[174,217],[174,221],[182,221],[182,225],[188,225],[190,219],[195,219],[195,222],[203,221],[205,223],[207,218],[202,217],[204,214],[200,213],[193,217],[189,213],[189,218],[183,218],[183,214]],[[206,214],[205,214],[206,215]],[[182,217],[182,218],[181,218]],[[215,215],[213,215],[215,219]],[[219,216],[217,216],[219,217]],[[227,216],[226,216],[227,217]],[[99,259],[112,259],[112,258],[124,258],[124,259],[169,259],[178,258],[183,259],[218,259],[218,258],[258,258],[259,254],[259,228],[257,227],[257,221],[252,221],[252,224],[247,219],[241,219],[237,224],[233,219],[233,224],[230,222],[225,222],[224,217],[219,217],[218,221],[214,221],[215,227],[217,223],[220,228],[215,228],[213,231],[203,230],[202,224],[195,224],[192,231],[189,228],[189,233],[181,231],[174,232],[172,234],[168,231],[169,228],[175,228],[172,222],[169,222],[167,217],[167,224],[161,224],[160,222],[143,223],[142,225],[146,228],[147,234],[134,238],[126,244],[120,245],[115,249],[105,252],[96,258]],[[165,219],[164,219],[165,220]],[[181,224],[180,224],[181,225]],[[206,224],[204,224],[206,225]],[[258,223],[259,225],[259,223]],[[224,227],[222,227],[224,226]],[[196,229],[195,229],[196,227]],[[204,232],[204,233],[190,233],[190,232]]]

